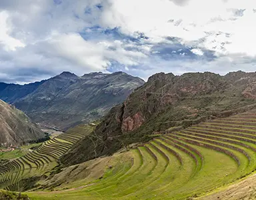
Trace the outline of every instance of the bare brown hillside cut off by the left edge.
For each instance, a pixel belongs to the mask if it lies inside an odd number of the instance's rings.
[[[23,145],[45,139],[29,117],[12,105],[0,100],[0,146],[9,147]]]

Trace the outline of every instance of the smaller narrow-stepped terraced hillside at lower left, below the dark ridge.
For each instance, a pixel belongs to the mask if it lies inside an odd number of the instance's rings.
[[[63,133],[46,141],[34,151],[18,159],[12,159],[0,167],[0,189],[23,191],[30,182],[57,166],[57,161],[72,145],[91,133],[92,127],[84,127],[79,133]],[[33,177],[31,179],[31,177]],[[38,179],[36,178],[38,177]]]

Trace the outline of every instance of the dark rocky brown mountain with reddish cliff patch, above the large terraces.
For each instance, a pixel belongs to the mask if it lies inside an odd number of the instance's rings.
[[[62,157],[65,165],[109,155],[155,131],[187,127],[255,105],[256,74],[158,73],[113,107],[95,131]],[[83,152],[83,153],[81,153]]]

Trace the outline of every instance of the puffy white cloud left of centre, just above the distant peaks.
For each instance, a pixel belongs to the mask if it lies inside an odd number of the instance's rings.
[[[70,33],[55,35],[49,40],[51,55],[69,59],[82,67],[100,71],[107,69],[110,60],[123,65],[137,65],[138,59],[147,57],[139,51],[127,51],[123,49],[121,41],[101,41],[99,43],[85,41],[79,34]],[[113,47],[115,51],[109,49]]]

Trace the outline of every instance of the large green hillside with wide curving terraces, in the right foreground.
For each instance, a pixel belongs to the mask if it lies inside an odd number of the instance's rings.
[[[104,169],[77,181],[74,165],[53,179],[55,191],[28,193],[31,199],[187,199],[205,195],[256,168],[256,113],[215,119],[108,157],[91,161]],[[79,172],[75,172],[79,173]],[[81,173],[81,172],[80,172]],[[92,180],[95,177],[95,180]],[[66,179],[67,180],[67,179]],[[56,184],[56,183],[55,183]],[[52,189],[52,188],[51,188]]]

